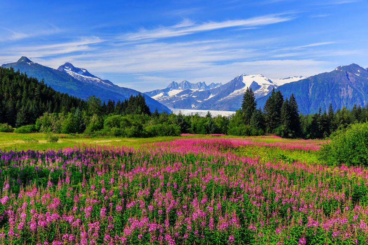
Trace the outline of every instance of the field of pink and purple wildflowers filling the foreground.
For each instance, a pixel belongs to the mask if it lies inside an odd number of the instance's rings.
[[[271,136],[266,136],[271,137]],[[368,172],[236,154],[323,142],[181,138],[1,151],[2,244],[366,244]]]

